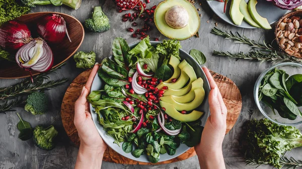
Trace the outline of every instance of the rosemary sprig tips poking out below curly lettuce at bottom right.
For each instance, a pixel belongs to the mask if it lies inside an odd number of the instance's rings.
[[[247,165],[257,165],[256,168],[260,165],[264,165],[264,164],[268,164],[268,162],[265,162],[265,161],[256,161],[255,159],[252,159],[252,158],[249,158],[249,159],[246,159],[246,162],[247,162]],[[302,161],[301,160],[295,160],[293,157],[281,157],[280,158],[280,165],[281,165],[281,168],[282,167],[286,167],[287,169],[288,168],[298,168],[298,167],[302,167]]]

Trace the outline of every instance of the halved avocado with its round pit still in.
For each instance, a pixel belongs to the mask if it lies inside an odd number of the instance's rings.
[[[161,2],[155,10],[154,22],[163,35],[177,40],[185,40],[194,36],[200,26],[196,8],[185,0]]]

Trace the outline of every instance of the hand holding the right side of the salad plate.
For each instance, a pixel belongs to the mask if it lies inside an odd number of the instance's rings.
[[[222,142],[226,130],[226,114],[228,113],[220,91],[206,67],[202,68],[210,84],[209,93],[210,116],[201,135],[201,141],[195,146],[198,157],[222,156]],[[223,158],[222,158],[223,160]],[[223,163],[224,164],[224,163]]]

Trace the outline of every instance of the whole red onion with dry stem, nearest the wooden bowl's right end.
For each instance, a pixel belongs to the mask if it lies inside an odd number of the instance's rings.
[[[71,42],[66,22],[64,18],[58,14],[50,14],[41,17],[40,21],[37,23],[37,32],[43,39],[51,43],[61,42],[65,35],[67,35]]]

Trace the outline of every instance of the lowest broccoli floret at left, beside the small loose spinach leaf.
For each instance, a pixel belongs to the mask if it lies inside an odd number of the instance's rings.
[[[38,125],[34,129],[34,142],[35,144],[44,150],[51,150],[54,148],[55,144],[53,139],[57,136],[58,132],[53,126],[48,128],[43,128]]]

